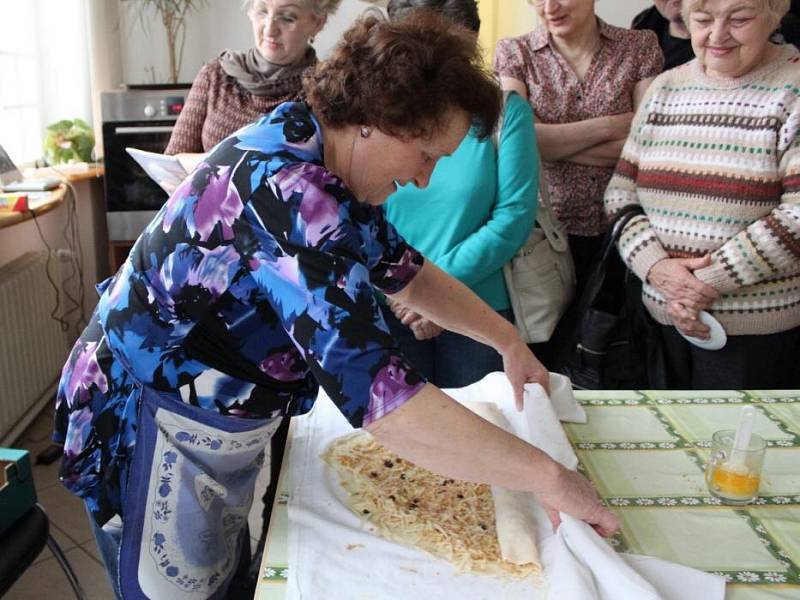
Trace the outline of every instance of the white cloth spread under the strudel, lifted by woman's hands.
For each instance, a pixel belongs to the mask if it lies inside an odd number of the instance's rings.
[[[577,458],[546,395],[526,393],[525,410],[517,412],[511,386],[500,373],[487,375],[466,388],[447,390],[447,393],[462,403],[495,403],[515,435],[538,446],[568,468],[575,468]],[[603,600],[599,592],[593,592],[594,595],[548,595],[547,584],[536,583],[531,578],[506,581],[458,574],[450,565],[425,552],[376,536],[374,527],[368,521],[347,508],[347,495],[339,483],[338,475],[319,458],[334,439],[351,431],[347,420],[322,392],[311,413],[295,421],[289,463],[287,598],[489,600],[502,597],[504,600]],[[610,559],[604,563],[610,566],[603,567],[608,571],[599,570],[582,554],[584,542],[580,532],[569,534],[569,530],[565,530],[572,547],[568,552],[563,552],[554,542],[557,539],[564,544],[566,542],[563,542],[563,537],[554,536],[545,511],[536,506],[532,519],[536,526],[541,562],[552,589],[569,589],[570,583],[581,572],[585,574],[584,579],[591,582],[615,578],[620,571],[629,574],[625,566],[629,565],[647,577],[664,600],[723,598],[724,591],[721,590],[724,590],[724,583],[721,584],[718,577],[647,557],[623,562],[619,558],[621,555],[618,556],[610,547]],[[586,529],[588,533],[585,530],[584,533],[591,542],[589,552],[596,553],[598,548],[594,548],[594,544],[605,546],[606,543],[591,528],[586,526]],[[615,557],[618,563],[612,560]],[[583,560],[589,562],[583,563]],[[693,576],[666,578],[666,583],[673,589],[665,592],[662,582],[650,577],[653,569],[663,568],[663,565],[680,572],[692,572]],[[615,600],[626,599],[622,597]]]

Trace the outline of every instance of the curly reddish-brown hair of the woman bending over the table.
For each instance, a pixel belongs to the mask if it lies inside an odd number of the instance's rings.
[[[306,72],[303,89],[326,124],[397,137],[430,135],[455,107],[485,138],[502,106],[474,34],[427,10],[392,21],[362,17],[328,60]]]

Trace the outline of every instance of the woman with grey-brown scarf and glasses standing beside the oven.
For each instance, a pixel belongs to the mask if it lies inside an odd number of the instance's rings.
[[[255,46],[203,65],[166,154],[208,152],[228,135],[300,99],[300,77],[317,62],[311,42],[341,0],[246,0]]]

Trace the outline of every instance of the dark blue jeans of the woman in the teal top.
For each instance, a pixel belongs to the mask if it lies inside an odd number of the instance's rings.
[[[403,354],[432,384],[440,388],[463,387],[493,371],[503,370],[503,358],[494,348],[452,331],[443,331],[430,340],[418,340],[388,306],[381,309]],[[499,313],[513,320],[510,310]]]

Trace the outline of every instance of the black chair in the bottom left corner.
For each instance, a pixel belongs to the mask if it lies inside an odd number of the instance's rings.
[[[86,595],[78,583],[75,572],[58,543],[50,535],[50,519],[38,504],[34,504],[10,529],[0,534],[0,596],[3,596],[25,569],[33,564],[45,544],[61,565],[72,591],[75,592],[75,597],[78,600],[85,600]]]

